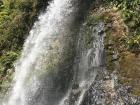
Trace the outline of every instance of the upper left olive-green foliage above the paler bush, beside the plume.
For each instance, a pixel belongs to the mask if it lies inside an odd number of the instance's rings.
[[[20,50],[37,19],[43,0],[3,0],[0,8],[0,50]],[[42,4],[44,5],[44,4]]]

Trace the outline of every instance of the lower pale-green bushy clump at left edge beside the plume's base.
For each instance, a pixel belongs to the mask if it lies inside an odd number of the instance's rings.
[[[12,74],[14,72],[14,62],[19,56],[19,52],[7,52],[0,57],[0,90],[6,91],[10,87]]]

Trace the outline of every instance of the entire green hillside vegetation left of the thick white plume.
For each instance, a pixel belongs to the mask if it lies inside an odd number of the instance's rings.
[[[0,0],[0,90],[9,87],[14,72],[13,64],[20,55],[24,40],[39,11],[47,5],[42,2]]]

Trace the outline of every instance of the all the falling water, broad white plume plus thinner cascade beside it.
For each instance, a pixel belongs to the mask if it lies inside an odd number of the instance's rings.
[[[68,85],[63,94],[61,91],[57,91],[57,89],[62,90],[60,89],[61,86],[55,87],[56,76],[45,75],[48,76],[48,78],[46,77],[47,79],[44,79],[45,85],[40,80],[40,75],[42,76],[46,73],[44,71],[47,68],[44,65],[50,64],[46,62],[51,62],[49,60],[55,59],[55,57],[48,59],[50,53],[55,53],[56,49],[58,52],[63,52],[65,43],[64,45],[62,43],[65,41],[62,40],[65,40],[64,37],[69,37],[70,35],[70,26],[77,10],[76,1],[53,0],[50,2],[46,12],[39,16],[38,21],[35,22],[30,35],[26,39],[22,55],[15,65],[14,84],[9,92],[9,99],[4,101],[2,105],[82,104],[86,91],[93,84],[98,70],[102,69],[104,35],[99,35],[98,32],[103,30],[103,23],[99,23],[93,28],[91,34],[94,41],[89,49],[84,47],[82,29],[79,32],[78,41],[75,42],[77,48],[74,63],[69,64],[72,65],[71,69],[74,71],[71,77],[71,85]],[[61,55],[61,53],[59,54]],[[53,61],[57,62],[57,59]],[[52,67],[52,65],[48,67]],[[59,77],[60,75],[57,76]],[[53,78],[56,78],[56,80]]]

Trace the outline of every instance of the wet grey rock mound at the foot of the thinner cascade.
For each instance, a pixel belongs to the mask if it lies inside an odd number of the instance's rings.
[[[117,83],[116,74],[102,71],[86,92],[81,105],[139,105],[140,98],[130,95],[131,88]]]

